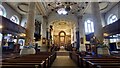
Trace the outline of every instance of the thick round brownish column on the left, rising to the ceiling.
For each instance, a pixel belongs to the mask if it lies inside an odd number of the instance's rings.
[[[35,2],[30,2],[26,24],[25,45],[28,45],[28,43],[33,43],[34,32],[35,32]]]

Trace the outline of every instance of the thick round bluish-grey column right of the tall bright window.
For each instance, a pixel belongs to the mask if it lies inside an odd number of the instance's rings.
[[[99,3],[91,2],[91,9],[94,22],[94,35],[96,36],[97,39],[99,39],[100,42],[103,42],[103,31]]]

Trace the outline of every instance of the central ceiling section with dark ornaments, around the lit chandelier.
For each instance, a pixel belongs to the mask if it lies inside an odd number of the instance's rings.
[[[88,2],[46,2],[45,8],[48,13],[51,13],[53,11],[57,12],[59,8],[65,8],[69,6],[71,8],[69,13],[80,14],[80,12],[87,7],[87,4]]]

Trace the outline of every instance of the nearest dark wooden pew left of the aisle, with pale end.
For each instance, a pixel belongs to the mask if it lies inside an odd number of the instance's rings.
[[[3,61],[3,67],[5,67],[6,65],[12,65],[12,67],[14,67],[14,65],[21,65],[21,67],[23,66],[28,66],[28,65],[33,65],[33,66],[38,66],[40,68],[45,68],[46,67],[46,62],[44,61],[46,60],[46,58],[36,58],[36,59],[32,59],[32,58],[17,58],[17,59],[8,59],[8,60],[4,60]]]

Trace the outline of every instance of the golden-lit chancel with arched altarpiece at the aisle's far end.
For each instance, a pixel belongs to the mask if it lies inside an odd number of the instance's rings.
[[[53,26],[52,40],[53,44],[57,46],[65,46],[71,44],[71,39],[73,38],[73,27],[75,23],[59,20],[54,21],[51,24]]]

